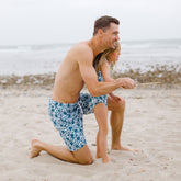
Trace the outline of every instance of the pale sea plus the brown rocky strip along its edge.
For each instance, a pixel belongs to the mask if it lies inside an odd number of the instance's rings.
[[[0,46],[0,87],[53,86],[72,44]],[[181,83],[181,39],[121,42],[112,77],[138,83]]]

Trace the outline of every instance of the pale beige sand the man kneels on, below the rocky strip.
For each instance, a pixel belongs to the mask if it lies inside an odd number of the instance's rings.
[[[30,143],[38,138],[55,145],[63,139],[47,114],[52,90],[7,88],[0,90],[1,181],[180,181],[181,91],[166,88],[117,90],[126,100],[122,144],[138,152],[110,150],[115,162],[91,166],[58,160],[46,152],[29,159]],[[93,157],[98,125],[84,116],[84,133]]]

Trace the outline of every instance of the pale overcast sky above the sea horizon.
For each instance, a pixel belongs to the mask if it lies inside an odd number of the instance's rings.
[[[0,0],[0,45],[76,43],[101,15],[122,41],[181,38],[181,0]]]

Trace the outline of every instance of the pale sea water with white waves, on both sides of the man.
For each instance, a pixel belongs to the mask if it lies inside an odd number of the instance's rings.
[[[122,54],[115,71],[151,66],[173,65],[181,68],[181,39],[121,42]],[[41,75],[56,72],[73,44],[0,46],[0,76]]]

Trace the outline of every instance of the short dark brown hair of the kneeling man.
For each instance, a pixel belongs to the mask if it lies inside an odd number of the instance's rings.
[[[104,15],[95,20],[93,35],[98,33],[99,29],[102,29],[103,31],[105,31],[108,27],[110,27],[111,23],[115,23],[120,25],[120,21],[117,19],[109,16],[109,15]]]

